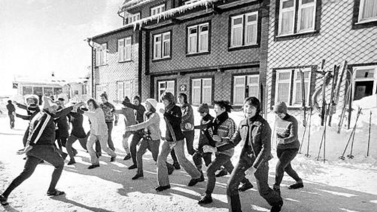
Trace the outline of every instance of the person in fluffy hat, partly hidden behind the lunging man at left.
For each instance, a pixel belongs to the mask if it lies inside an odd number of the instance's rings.
[[[34,115],[40,112],[40,108],[38,106],[38,98],[35,95],[29,95],[26,97],[26,103],[27,103],[26,105],[17,103],[15,101],[13,103],[15,103],[18,108],[26,110],[28,115],[20,115],[16,113],[16,117],[22,118],[23,120],[28,120],[30,122],[30,120],[32,120]],[[22,143],[24,147],[26,146],[26,141],[28,140],[28,136],[29,136],[29,124],[22,138]]]

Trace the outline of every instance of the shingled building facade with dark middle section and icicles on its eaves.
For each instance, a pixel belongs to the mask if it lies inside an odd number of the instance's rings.
[[[194,105],[214,100],[241,105],[245,97],[259,96],[267,70],[268,2],[207,1],[185,8],[195,2],[139,1],[122,8],[125,26],[92,39],[107,47],[107,63],[95,66],[97,94],[107,89],[111,99],[120,99],[116,83],[132,80],[131,93],[143,100],[170,91],[186,93]],[[138,22],[180,8],[169,17]],[[120,62],[118,40],[127,36],[132,60]]]

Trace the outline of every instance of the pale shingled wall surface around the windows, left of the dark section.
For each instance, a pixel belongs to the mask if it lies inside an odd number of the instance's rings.
[[[132,36],[132,61],[119,62],[118,39]],[[109,100],[117,98],[116,81],[133,80],[133,94],[138,95],[138,31],[128,29],[96,38],[95,43],[108,43],[107,65],[95,67],[95,84],[106,84]]]

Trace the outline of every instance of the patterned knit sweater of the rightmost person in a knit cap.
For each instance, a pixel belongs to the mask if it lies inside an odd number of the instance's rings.
[[[284,118],[276,119],[276,137],[278,149],[298,149],[300,141],[298,139],[298,124],[296,118],[285,115]]]

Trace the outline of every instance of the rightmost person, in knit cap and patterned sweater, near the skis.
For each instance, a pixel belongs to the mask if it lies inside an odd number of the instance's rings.
[[[299,189],[304,187],[302,179],[291,166],[291,161],[296,157],[300,148],[298,139],[298,124],[296,118],[287,113],[287,105],[282,101],[274,105],[274,112],[277,116],[275,123],[277,148],[276,155],[279,161],[276,163],[274,190],[280,194],[280,183],[283,180],[284,172],[296,180],[288,189]]]

